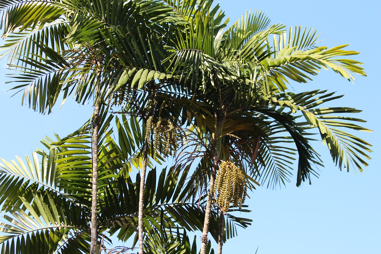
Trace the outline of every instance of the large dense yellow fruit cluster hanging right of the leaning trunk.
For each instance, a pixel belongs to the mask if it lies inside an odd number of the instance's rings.
[[[231,161],[224,161],[219,165],[216,182],[213,188],[217,194],[216,204],[223,212],[227,212],[230,203],[241,209],[246,197],[246,180],[242,170]]]

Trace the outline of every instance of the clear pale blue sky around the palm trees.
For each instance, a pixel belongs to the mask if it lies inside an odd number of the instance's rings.
[[[296,92],[328,89],[345,94],[336,105],[363,110],[356,117],[367,120],[362,125],[373,132],[362,132],[359,136],[373,144],[374,151],[370,154],[373,158],[370,166],[363,173],[354,170],[347,173],[335,167],[326,146],[314,143],[325,164],[320,168],[319,179],[312,178],[312,185],[304,183],[297,188],[296,179],[292,178],[282,190],[258,187],[250,193],[246,204],[252,212],[242,216],[253,219],[253,225],[239,229],[238,236],[224,245],[224,253],[254,254],[258,246],[258,254],[380,253],[381,136],[376,106],[381,94],[377,74],[380,3],[221,0],[220,5],[231,21],[236,21],[247,9],[258,9],[272,23],[314,27],[320,32],[320,40],[324,40],[319,45],[334,47],[350,43],[349,50],[361,52],[353,58],[364,63],[368,76],[355,76],[355,84],[330,70],[322,71],[309,84],[292,84],[292,87]],[[13,86],[5,84],[9,80],[5,77],[8,72],[0,69],[0,158],[10,160],[14,155],[31,155],[35,148],[41,147],[39,141],[45,135],[53,137],[54,131],[64,137],[90,117],[90,105],[79,106],[70,100],[45,116],[21,107],[21,94],[9,98],[13,92],[6,92]]]

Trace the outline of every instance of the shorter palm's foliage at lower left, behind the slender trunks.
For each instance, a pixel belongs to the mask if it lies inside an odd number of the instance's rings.
[[[110,127],[113,116],[100,110],[103,125],[100,126],[98,152],[98,241],[106,233],[118,233],[120,240],[127,240],[138,228],[136,215],[139,204],[140,174],[136,181],[129,173],[139,168],[142,158],[137,153],[144,142],[144,132],[139,129],[138,120],[115,117],[116,133]],[[91,121],[65,138],[57,137],[53,142],[45,138],[44,150],[36,150],[31,158],[7,162],[1,160],[0,196],[2,212],[8,223],[0,225],[1,251],[4,253],[88,253],[91,246]],[[118,141],[112,139],[116,134]],[[133,139],[128,138],[132,135]],[[131,140],[135,140],[132,143]],[[124,149],[122,151],[122,148]],[[46,151],[46,149],[48,151]],[[150,160],[149,167],[153,167]],[[168,170],[163,168],[160,175],[151,170],[147,175],[144,199],[145,252],[152,253],[149,243],[159,241],[154,232],[168,231],[177,240],[163,238],[163,248],[182,251],[190,246],[186,235],[175,231],[194,231],[202,228],[205,209],[199,202],[193,182],[186,182],[188,172],[180,172],[181,166]],[[158,183],[157,185],[152,183]],[[218,215],[213,214],[217,219]],[[247,224],[229,217],[228,223]],[[152,233],[152,235],[150,235]],[[217,235],[218,231],[213,234]],[[138,234],[137,234],[138,235]],[[165,240],[167,239],[167,240]],[[161,240],[160,240],[161,241]],[[160,243],[159,241],[159,243]],[[170,245],[168,245],[170,244]],[[26,246],[28,246],[26,248]],[[157,245],[158,248],[161,246]],[[166,247],[165,247],[166,246]],[[163,253],[163,252],[162,252]]]

